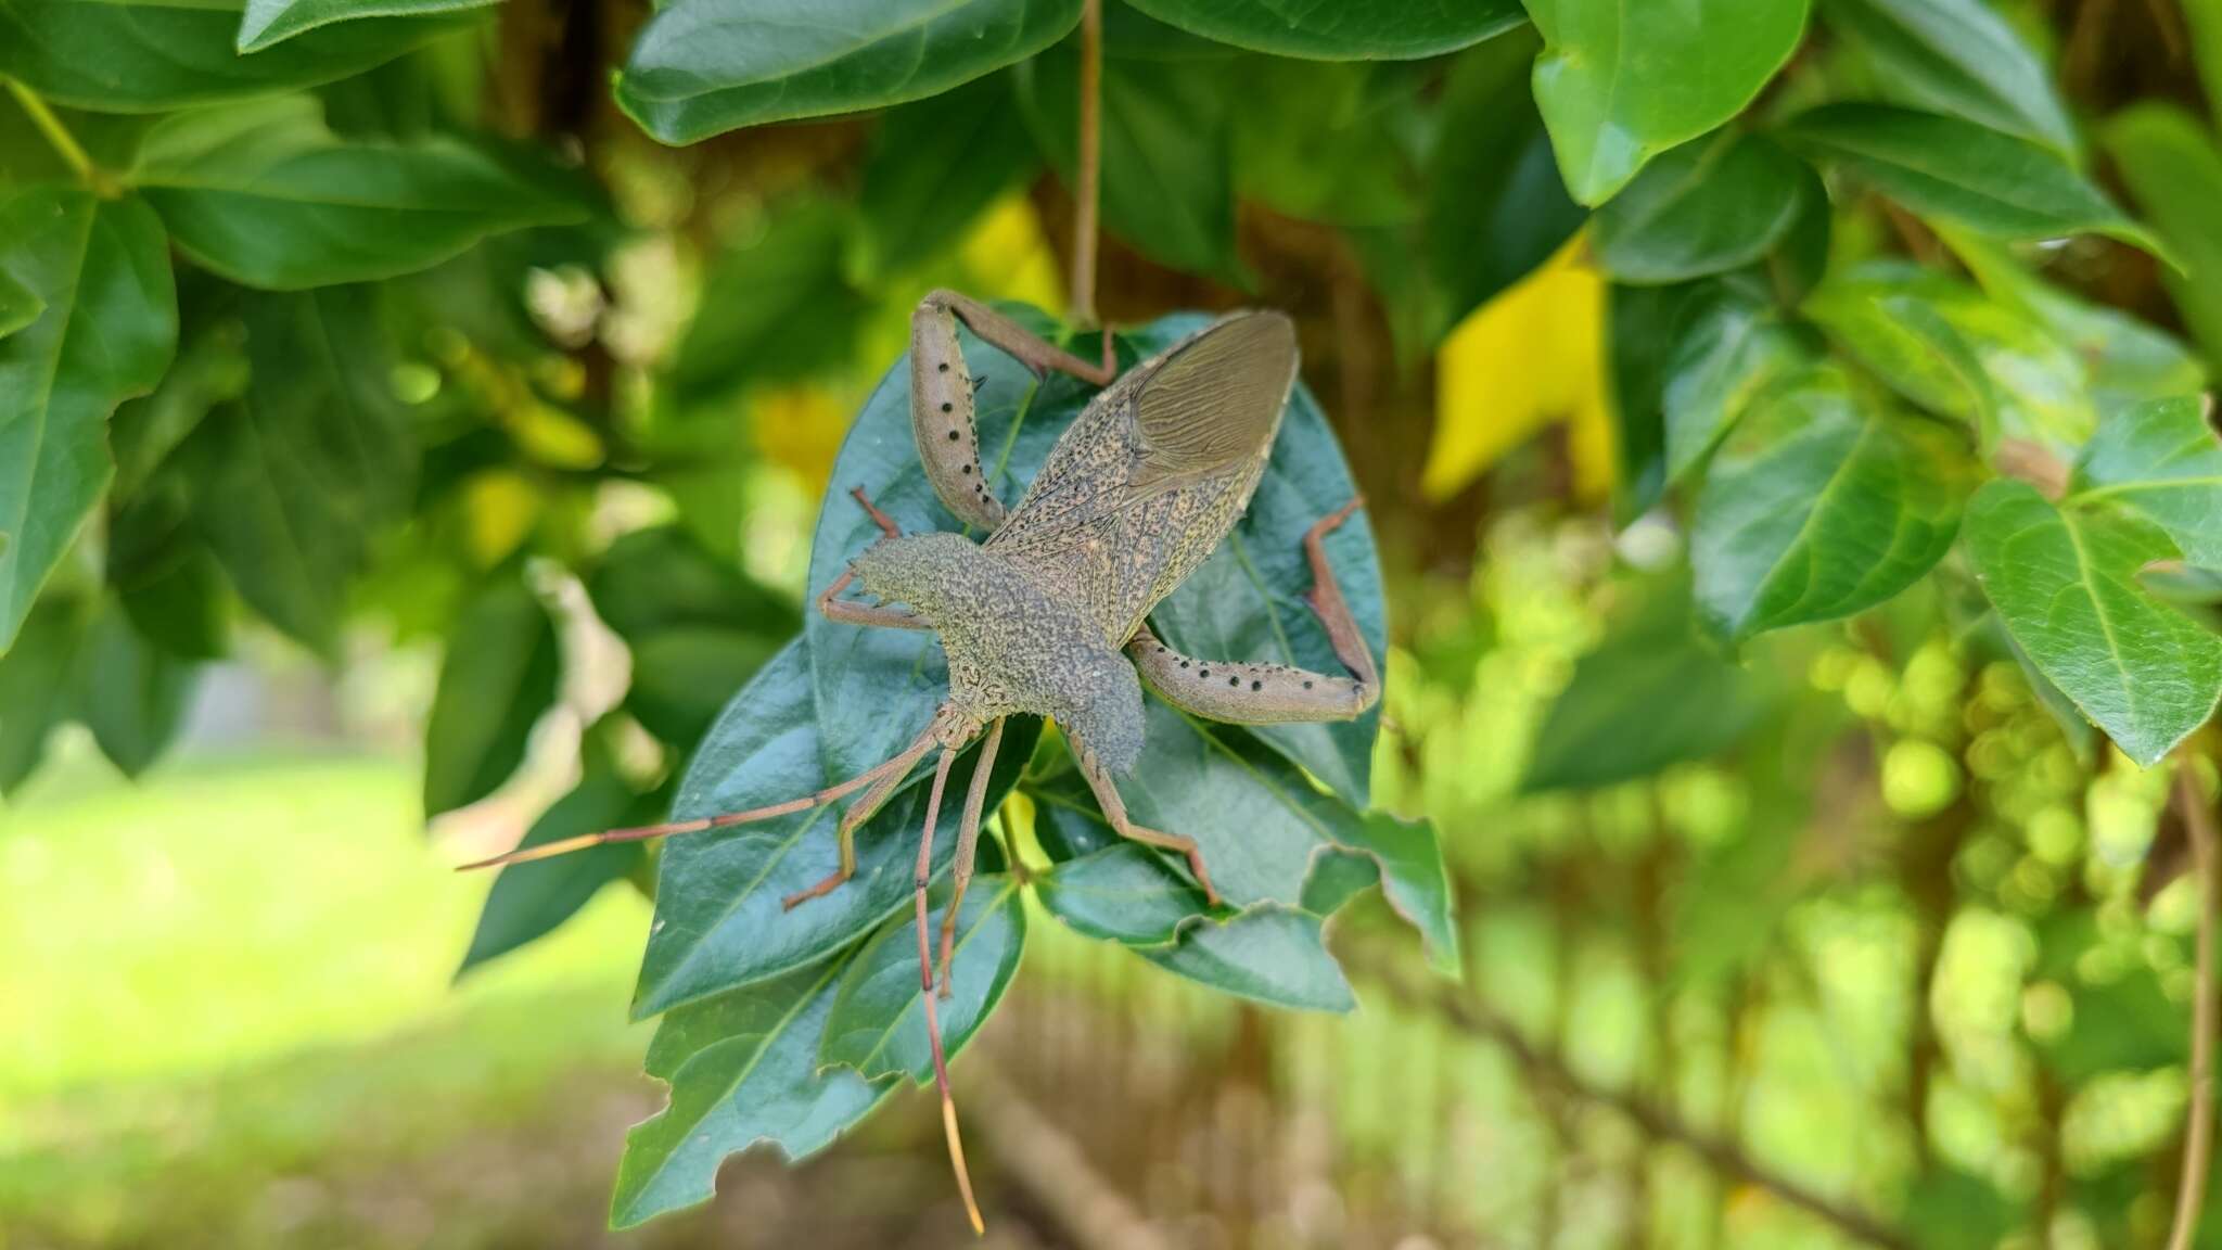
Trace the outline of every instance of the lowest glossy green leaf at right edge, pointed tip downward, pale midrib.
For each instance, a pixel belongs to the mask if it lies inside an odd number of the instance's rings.
[[[2133,761],[2151,767],[2213,714],[2222,636],[2138,585],[2144,565],[2175,558],[2162,529],[2000,478],[1975,492],[1966,536],[2013,641]]]

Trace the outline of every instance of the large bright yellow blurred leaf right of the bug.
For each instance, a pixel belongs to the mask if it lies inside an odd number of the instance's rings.
[[[1604,278],[1575,236],[1542,269],[1458,323],[1435,356],[1435,438],[1420,489],[1449,498],[1507,452],[1567,423],[1573,492],[1611,494],[1615,454],[1604,387]]]

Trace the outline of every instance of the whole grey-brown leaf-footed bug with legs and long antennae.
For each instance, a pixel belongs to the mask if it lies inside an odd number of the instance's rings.
[[[960,320],[1038,376],[1058,369],[1104,387],[1058,438],[1042,472],[1009,514],[982,480],[973,385],[958,351]],[[855,874],[855,830],[902,787],[913,765],[940,747],[918,847],[918,976],[927,990],[927,1032],[949,1157],[964,1208],[980,1230],[980,1208],[973,1203],[949,1094],[935,996],[949,994],[958,907],[973,874],[987,781],[1004,718],[1053,718],[1111,827],[1187,856],[1195,883],[1218,903],[1195,839],[1133,823],[1111,783],[1142,754],[1142,683],[1198,716],[1249,725],[1344,721],[1367,712],[1380,696],[1373,656],[1322,547],[1322,538],[1358,509],[1355,498],[1322,516],[1304,536],[1313,576],[1309,603],[1349,676],[1182,656],[1147,625],[1151,607],[1204,563],[1249,507],[1295,385],[1295,327],[1275,311],[1229,314],[1115,376],[1109,334],[1102,365],[1091,365],[978,300],[953,291],[929,294],[911,318],[911,431],[935,494],[953,516],[984,532],[987,540],[902,534],[858,489],[858,503],[887,536],[855,556],[818,596],[818,609],[833,621],[931,629],[940,636],[949,656],[949,696],[927,732],[893,758],[802,798],[671,825],[587,834],[467,867],[769,821],[862,790],[838,825],[840,867],[789,896],[787,907],[795,907],[838,890]],[[880,603],[840,598],[851,581]],[[958,825],[955,892],[942,914],[935,976],[927,941],[933,825],[949,765],[980,734],[987,734],[987,743]]]

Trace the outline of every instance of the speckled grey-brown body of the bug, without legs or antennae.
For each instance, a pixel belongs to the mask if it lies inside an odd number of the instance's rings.
[[[947,745],[1024,712],[1133,767],[1142,683],[1120,647],[1242,516],[1293,385],[1287,318],[1213,323],[1095,396],[987,545],[907,534],[853,560],[940,634]]]

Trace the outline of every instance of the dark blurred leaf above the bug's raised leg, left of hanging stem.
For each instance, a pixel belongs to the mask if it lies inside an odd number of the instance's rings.
[[[1033,140],[1002,76],[889,111],[860,176],[853,278],[878,282],[955,247],[1033,169]]]

